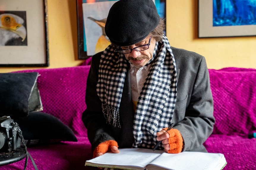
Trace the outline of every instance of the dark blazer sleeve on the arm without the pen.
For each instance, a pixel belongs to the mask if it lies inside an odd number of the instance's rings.
[[[87,128],[88,139],[94,149],[99,143],[106,140],[115,140],[111,135],[110,128],[106,124],[102,113],[102,103],[97,95],[96,85],[98,82],[98,70],[101,53],[92,57],[91,68],[86,84],[86,110],[83,112],[82,121]]]

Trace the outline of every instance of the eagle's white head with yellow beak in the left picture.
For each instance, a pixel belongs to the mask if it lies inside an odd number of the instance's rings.
[[[26,37],[23,18],[11,13],[0,14],[0,46],[27,45],[23,43]]]

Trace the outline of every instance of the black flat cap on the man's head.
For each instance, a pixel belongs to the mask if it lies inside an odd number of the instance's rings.
[[[119,0],[110,8],[105,32],[112,43],[130,46],[146,38],[159,20],[152,0]]]

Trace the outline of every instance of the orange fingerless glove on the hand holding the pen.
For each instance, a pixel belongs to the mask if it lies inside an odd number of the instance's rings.
[[[163,130],[167,130],[168,128],[164,128]],[[170,135],[169,137],[169,145],[170,150],[168,153],[180,153],[183,147],[183,138],[178,129],[170,129],[167,131]]]

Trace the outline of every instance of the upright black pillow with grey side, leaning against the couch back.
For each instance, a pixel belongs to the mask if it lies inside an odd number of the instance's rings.
[[[0,116],[27,116],[41,111],[37,72],[0,73]]]

